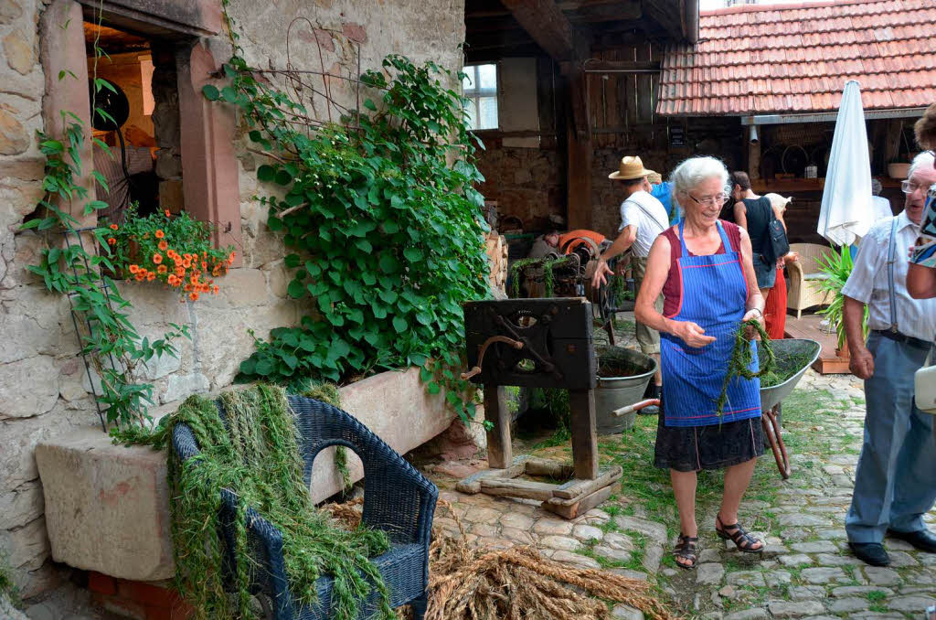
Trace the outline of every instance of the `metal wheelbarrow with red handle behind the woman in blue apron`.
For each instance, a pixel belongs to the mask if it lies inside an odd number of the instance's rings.
[[[763,347],[763,345],[758,343],[758,348],[760,347]],[[770,341],[770,347],[773,349],[773,355],[777,363],[776,372],[781,375],[786,375],[793,370],[797,371],[782,383],[768,388],[761,388],[760,391],[761,425],[764,427],[764,435],[767,437],[768,443],[770,444],[770,450],[773,450],[773,457],[777,461],[777,469],[780,470],[780,475],[783,480],[786,480],[790,477],[790,459],[786,453],[786,446],[783,445],[780,420],[778,419],[781,412],[781,401],[793,392],[797,387],[799,379],[806,374],[806,370],[819,358],[819,352],[822,350],[822,346],[814,340],[788,338],[784,340],[772,340]],[[759,360],[764,360],[766,358],[762,350],[759,350],[758,353]],[[809,362],[804,363],[798,369],[791,368],[791,364],[797,364],[798,366],[804,360],[809,360]],[[658,406],[659,404],[659,400],[651,398],[640,401],[639,403],[634,403],[633,405],[622,406],[612,411],[610,415],[621,417],[627,414],[633,414],[646,406]]]

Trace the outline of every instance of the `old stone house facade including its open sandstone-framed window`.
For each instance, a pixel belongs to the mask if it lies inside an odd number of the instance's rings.
[[[388,53],[461,67],[461,0],[232,0],[229,14],[255,66],[285,67],[288,37],[292,66],[347,77]],[[223,81],[215,73],[230,55],[223,23],[217,0],[0,0],[0,562],[14,569],[23,596],[51,587],[55,575],[35,446],[93,426],[97,415],[68,301],[26,269],[46,241],[19,227],[43,197],[37,131],[61,132],[61,111],[88,118],[95,40],[114,52],[98,60],[101,75],[133,82],[124,91],[143,106],[132,118],[159,147],[161,203],[211,220],[219,243],[238,249],[217,297],[179,303],[169,290],[120,285],[142,335],[159,336],[170,322],[191,330],[179,359],[147,370],[159,404],[226,387],[254,348],[248,329],[264,337],[300,317],[286,299],[283,246],[253,199],[263,156],[247,150],[231,111],[201,96],[202,85]],[[341,89],[333,95],[352,105],[355,94]],[[89,144],[82,155],[91,161]],[[98,535],[109,544],[107,532]]]

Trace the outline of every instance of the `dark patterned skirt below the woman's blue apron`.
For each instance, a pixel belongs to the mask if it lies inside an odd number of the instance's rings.
[[[710,426],[666,426],[661,406],[658,418],[653,465],[662,469],[722,469],[764,453],[760,417]]]

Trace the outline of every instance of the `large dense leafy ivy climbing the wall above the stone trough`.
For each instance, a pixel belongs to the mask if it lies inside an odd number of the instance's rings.
[[[256,339],[241,378],[342,381],[415,364],[430,393],[444,389],[472,418],[470,385],[455,372],[461,303],[490,292],[475,139],[461,96],[443,83],[461,74],[388,56],[386,74],[361,76],[382,95],[380,111],[368,99],[372,112],[312,130],[295,122],[300,103],[257,80],[238,52],[224,66],[230,85],[203,93],[240,108],[250,139],[271,154],[256,170],[271,185],[259,201],[290,252],[288,292],[309,309],[299,327]]]

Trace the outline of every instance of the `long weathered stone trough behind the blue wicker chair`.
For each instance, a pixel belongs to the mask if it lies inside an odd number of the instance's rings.
[[[441,433],[454,417],[443,398],[424,390],[417,368],[372,376],[342,388],[341,395],[346,411],[399,452]],[[315,460],[315,502],[341,489],[331,454],[326,450]],[[36,460],[55,560],[124,579],[172,576],[163,452],[114,446],[107,435],[88,428],[46,441]],[[358,458],[349,454],[348,462],[352,480],[359,480]],[[96,536],[102,531],[109,533],[107,545]]]

